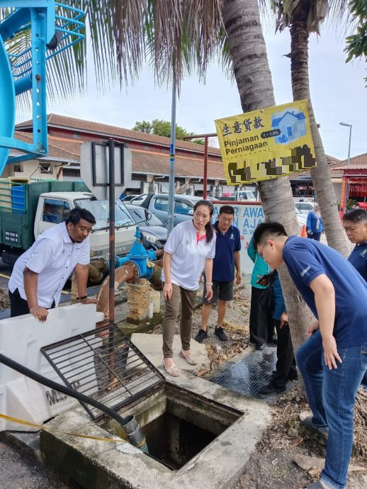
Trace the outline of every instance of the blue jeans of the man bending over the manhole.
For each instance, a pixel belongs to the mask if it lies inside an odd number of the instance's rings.
[[[329,370],[324,363],[320,330],[300,347],[297,365],[302,373],[312,422],[329,428],[325,466],[321,480],[332,489],[346,488],[353,446],[353,408],[356,393],[367,370],[367,342],[358,347],[338,347],[343,361]]]

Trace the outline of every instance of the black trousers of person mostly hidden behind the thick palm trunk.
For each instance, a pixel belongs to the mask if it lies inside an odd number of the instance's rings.
[[[273,384],[276,387],[285,387],[288,378],[297,377],[295,368],[295,357],[293,354],[293,345],[290,340],[290,330],[288,323],[281,327],[281,321],[274,319],[276,335],[278,336],[276,344],[276,373],[273,375]]]

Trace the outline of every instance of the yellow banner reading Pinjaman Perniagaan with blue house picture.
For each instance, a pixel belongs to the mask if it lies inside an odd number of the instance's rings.
[[[307,100],[215,120],[228,185],[316,166]]]

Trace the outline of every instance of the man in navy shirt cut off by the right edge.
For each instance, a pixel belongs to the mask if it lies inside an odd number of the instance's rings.
[[[367,282],[367,211],[361,208],[351,210],[344,214],[343,223],[349,241],[356,245],[348,261]],[[363,377],[362,386],[367,388],[367,372]]]

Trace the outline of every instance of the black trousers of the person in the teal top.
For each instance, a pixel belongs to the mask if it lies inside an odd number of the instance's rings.
[[[271,311],[259,308],[259,297],[264,288],[251,288],[250,342],[270,343],[273,340],[274,325]]]

